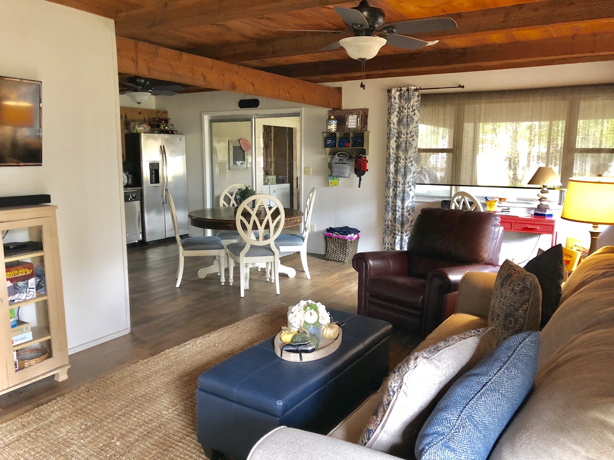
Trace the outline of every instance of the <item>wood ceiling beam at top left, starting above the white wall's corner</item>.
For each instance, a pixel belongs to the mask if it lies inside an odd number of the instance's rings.
[[[120,37],[136,38],[144,32],[185,29],[339,2],[340,0],[175,0],[119,13],[115,17],[115,33]]]

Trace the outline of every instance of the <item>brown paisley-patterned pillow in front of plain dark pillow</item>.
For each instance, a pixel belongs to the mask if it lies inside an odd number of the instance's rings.
[[[524,331],[538,331],[542,315],[542,289],[537,277],[506,260],[492,291],[488,327],[497,330],[497,343]]]

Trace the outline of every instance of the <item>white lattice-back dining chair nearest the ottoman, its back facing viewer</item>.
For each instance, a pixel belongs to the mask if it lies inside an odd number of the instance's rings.
[[[269,207],[267,202],[273,202],[273,207]],[[262,223],[259,218],[262,218]],[[249,289],[249,270],[260,264],[273,267],[271,276],[279,294],[279,249],[275,240],[284,229],[285,218],[281,202],[264,193],[255,194],[239,205],[235,221],[243,242],[228,245],[228,282],[233,285],[235,263],[238,263],[241,297],[245,296],[245,289]]]

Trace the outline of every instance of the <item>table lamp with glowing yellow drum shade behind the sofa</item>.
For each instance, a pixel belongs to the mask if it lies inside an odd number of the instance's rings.
[[[593,224],[591,255],[597,250],[599,225],[614,225],[614,177],[569,179],[561,217],[565,220]]]

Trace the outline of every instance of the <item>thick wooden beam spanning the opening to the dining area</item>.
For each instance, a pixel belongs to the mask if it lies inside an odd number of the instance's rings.
[[[341,108],[341,88],[303,82],[122,37],[117,37],[117,67],[122,74]]]

